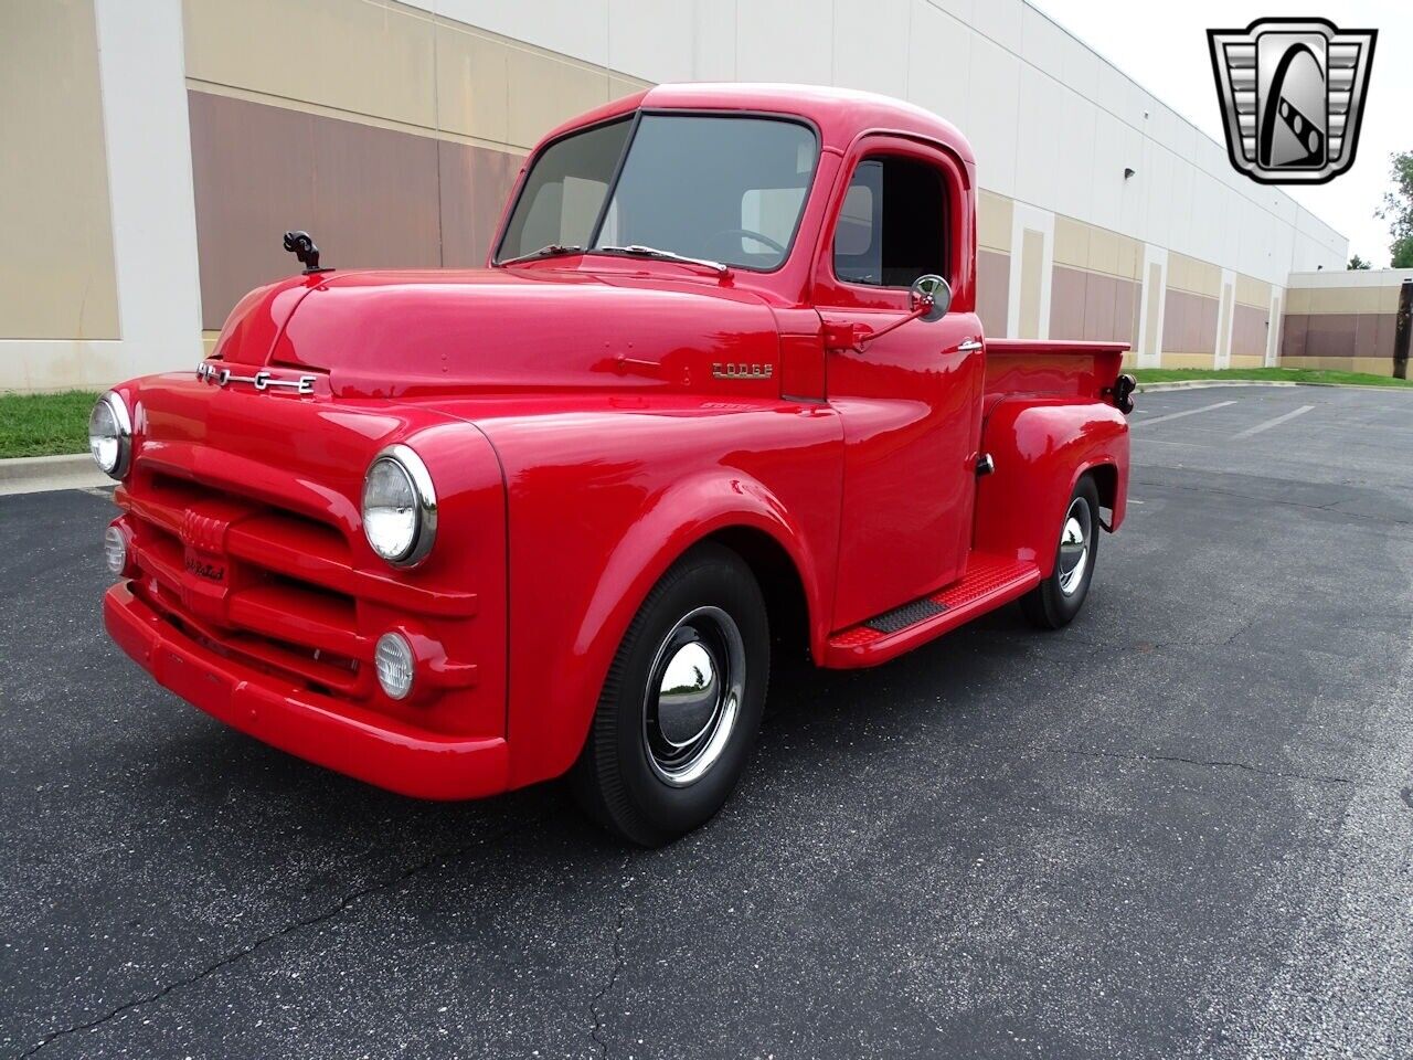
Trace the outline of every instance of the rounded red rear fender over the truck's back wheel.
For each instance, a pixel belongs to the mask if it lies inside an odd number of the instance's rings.
[[[996,469],[976,488],[974,547],[981,551],[1033,561],[1048,577],[1070,497],[1080,478],[1096,468],[1113,468],[1112,489],[1101,481],[1101,502],[1112,509],[1108,529],[1123,522],[1129,425],[1109,404],[1002,400],[982,428],[982,452],[991,454]]]

